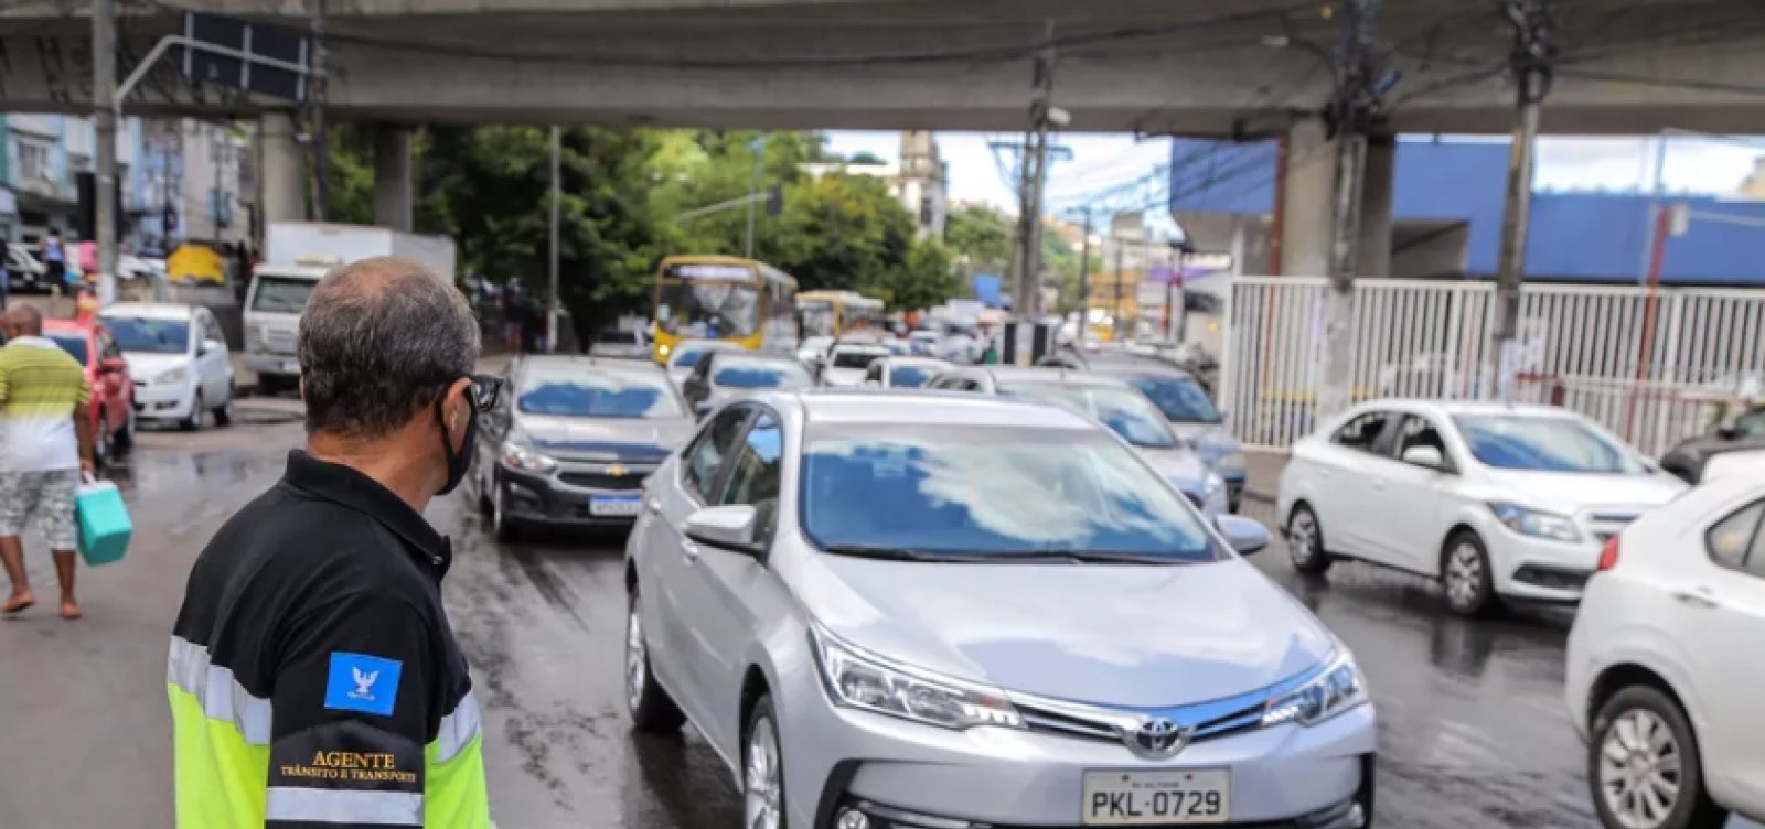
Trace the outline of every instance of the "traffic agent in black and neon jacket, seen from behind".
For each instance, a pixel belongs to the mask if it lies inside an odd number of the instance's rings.
[[[171,635],[180,829],[489,827],[452,547],[422,515],[496,402],[478,346],[466,298],[406,259],[312,291],[307,446],[203,549]]]

